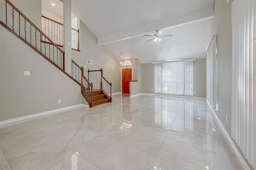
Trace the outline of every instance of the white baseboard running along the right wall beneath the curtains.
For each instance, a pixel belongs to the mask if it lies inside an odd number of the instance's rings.
[[[210,108],[212,109],[212,106],[210,105],[210,103],[208,102],[208,100],[206,99],[207,104],[210,106]],[[236,154],[236,157],[238,158],[239,162],[242,164],[242,167],[244,168],[244,170],[250,170],[249,166],[246,164],[243,156],[240,154],[240,152],[238,151],[236,145],[234,144],[234,142],[232,141],[231,137],[228,135],[228,132],[226,131],[225,127],[222,125],[220,119],[218,118],[218,116],[216,115],[214,109],[212,109],[212,114],[214,116],[214,118],[218,121],[218,125],[220,125],[222,132],[224,133],[224,136],[226,137],[228,143],[230,144],[230,146],[232,147],[233,151]]]

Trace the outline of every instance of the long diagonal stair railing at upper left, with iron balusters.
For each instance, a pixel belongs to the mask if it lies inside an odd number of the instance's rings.
[[[38,51],[55,66],[65,70],[65,53],[32,21],[30,21],[9,0],[5,0],[5,8],[1,8],[1,25],[13,31],[22,41]],[[42,42],[44,41],[44,42]]]

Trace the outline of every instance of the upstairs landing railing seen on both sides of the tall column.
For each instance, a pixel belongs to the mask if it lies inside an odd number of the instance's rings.
[[[63,47],[63,23],[42,15],[42,31],[59,47]],[[43,41],[43,40],[42,40]],[[79,50],[79,29],[71,28],[71,48]]]

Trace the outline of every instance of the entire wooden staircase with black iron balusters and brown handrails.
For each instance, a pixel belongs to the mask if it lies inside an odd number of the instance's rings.
[[[65,71],[65,52],[9,0],[5,2],[6,7],[1,8],[0,11],[2,14],[0,25],[81,86],[82,96],[88,102],[89,107],[112,102],[112,83],[104,78],[102,68],[88,70],[87,79],[84,76],[84,68],[72,60],[72,74],[68,74]]]

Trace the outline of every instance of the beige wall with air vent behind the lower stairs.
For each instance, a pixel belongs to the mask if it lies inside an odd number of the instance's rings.
[[[104,47],[97,44],[97,37],[80,20],[80,50],[72,50],[72,59],[84,68],[84,74],[88,77],[88,69],[103,69],[104,77],[112,82],[112,93],[120,92],[118,83],[119,64],[117,59]],[[93,64],[87,64],[87,59],[93,60]],[[110,78],[108,77],[110,76]]]

